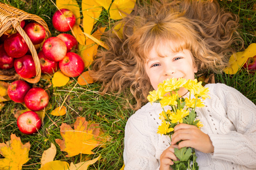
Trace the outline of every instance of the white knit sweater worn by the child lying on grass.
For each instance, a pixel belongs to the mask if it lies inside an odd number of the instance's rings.
[[[199,169],[256,169],[256,106],[225,84],[207,84],[210,99],[197,108],[214,146],[213,154],[196,151]],[[170,138],[157,134],[161,124],[159,103],[147,103],[135,112],[125,127],[125,169],[159,169],[160,155]]]

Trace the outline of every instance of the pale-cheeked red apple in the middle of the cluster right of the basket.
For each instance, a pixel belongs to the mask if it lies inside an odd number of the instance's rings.
[[[51,61],[61,61],[67,53],[65,42],[57,37],[49,37],[42,47],[44,56]]]

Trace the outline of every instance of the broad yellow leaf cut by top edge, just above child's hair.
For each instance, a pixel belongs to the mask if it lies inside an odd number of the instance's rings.
[[[133,11],[136,0],[115,0],[110,9],[109,14],[112,19],[123,19],[127,14]]]

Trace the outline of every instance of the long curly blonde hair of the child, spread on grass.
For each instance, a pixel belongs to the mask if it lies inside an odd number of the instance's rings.
[[[214,73],[228,66],[234,47],[243,46],[238,16],[225,12],[217,1],[151,1],[138,4],[117,24],[123,26],[122,36],[114,29],[106,33],[110,49],[98,52],[90,75],[102,82],[103,94],[134,97],[134,110],[147,102],[152,90],[144,63],[154,46],[158,51],[160,41],[175,42],[170,46],[174,52],[190,50],[199,71]]]

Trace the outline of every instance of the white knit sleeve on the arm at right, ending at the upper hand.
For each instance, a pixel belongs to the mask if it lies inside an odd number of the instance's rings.
[[[239,91],[220,84],[216,93],[226,110],[226,117],[236,130],[226,134],[209,134],[213,142],[213,158],[256,168],[256,106]]]

